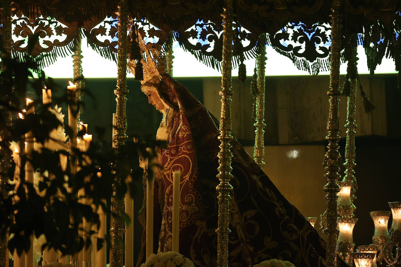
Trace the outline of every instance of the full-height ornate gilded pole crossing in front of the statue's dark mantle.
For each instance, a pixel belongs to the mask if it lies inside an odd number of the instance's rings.
[[[231,171],[231,58],[233,53],[233,0],[224,1],[223,9],[223,77],[221,79],[221,122],[220,136],[221,141],[219,151],[219,174],[217,177],[220,180],[216,187],[217,198],[219,199],[219,219],[217,224],[217,266],[228,266],[228,241],[229,241],[229,212],[230,199],[233,187],[229,181],[233,178]]]

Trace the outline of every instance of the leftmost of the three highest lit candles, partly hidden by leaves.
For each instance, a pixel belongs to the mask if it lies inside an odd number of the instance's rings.
[[[33,114],[34,113],[34,106],[32,105],[33,101],[29,98],[26,98],[26,114]],[[26,140],[26,157],[28,160],[26,161],[25,165],[25,180],[27,183],[31,183],[33,185],[33,167],[30,163],[32,160],[32,153],[33,153],[33,132],[30,130],[25,135]],[[26,253],[25,259],[25,267],[33,267],[33,236],[30,236],[30,248]]]

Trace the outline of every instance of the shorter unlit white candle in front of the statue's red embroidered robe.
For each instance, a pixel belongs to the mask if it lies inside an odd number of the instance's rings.
[[[173,174],[172,251],[179,252],[180,240],[180,172]]]

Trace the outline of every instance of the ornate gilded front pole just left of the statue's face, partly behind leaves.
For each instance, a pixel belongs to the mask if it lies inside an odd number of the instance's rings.
[[[118,50],[117,50],[117,89],[114,94],[117,96],[116,116],[115,116],[115,133],[113,135],[113,147],[119,149],[124,146],[127,139],[127,116],[126,116],[126,74],[127,74],[127,29],[128,29],[128,1],[121,0],[118,7],[117,16],[119,22],[118,29]],[[122,177],[116,179],[115,183],[124,181]],[[111,199],[111,211],[113,213],[113,224],[110,229],[111,235],[111,251],[110,251],[110,267],[122,267],[124,265],[124,232],[125,225],[122,215],[124,214],[124,196],[118,197],[113,186],[113,198]]]

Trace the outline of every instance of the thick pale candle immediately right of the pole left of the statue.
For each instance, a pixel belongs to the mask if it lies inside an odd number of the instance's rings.
[[[126,179],[128,183],[128,190],[125,198],[125,213],[130,217],[130,224],[126,225],[125,229],[125,266],[134,267],[134,199],[132,199],[130,194],[130,182],[132,182],[132,177],[129,175]]]

